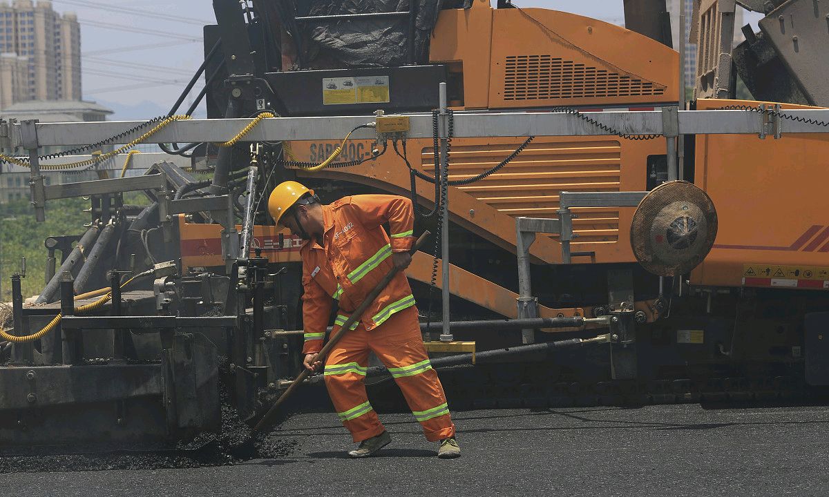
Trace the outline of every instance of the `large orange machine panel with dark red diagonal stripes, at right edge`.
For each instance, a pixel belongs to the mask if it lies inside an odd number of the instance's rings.
[[[759,102],[697,100],[697,109]],[[783,104],[783,109],[809,109]],[[691,283],[829,287],[829,133],[697,135],[696,185],[717,210],[714,249]]]

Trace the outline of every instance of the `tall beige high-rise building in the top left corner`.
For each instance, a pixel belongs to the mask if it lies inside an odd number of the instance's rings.
[[[61,16],[46,0],[0,0],[0,54],[18,59],[11,64],[6,57],[0,81],[23,83],[22,89],[0,90],[0,108],[22,100],[80,100],[80,25],[74,13]],[[22,57],[27,67],[21,77]]]

